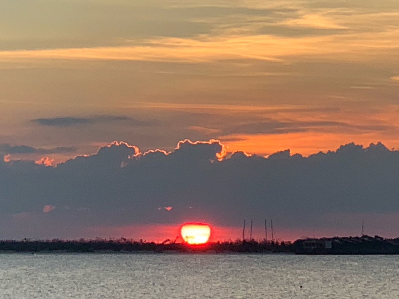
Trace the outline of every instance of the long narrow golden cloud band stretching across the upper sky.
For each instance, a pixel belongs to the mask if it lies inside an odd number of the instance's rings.
[[[164,37],[142,41],[142,45],[92,48],[58,48],[0,51],[2,62],[35,60],[77,61],[159,61],[211,63],[225,60],[257,60],[284,63],[300,57],[320,57],[338,61],[365,61],[359,52],[368,51],[367,61],[378,55],[394,55],[397,30],[281,37],[270,34],[221,35],[198,39]]]

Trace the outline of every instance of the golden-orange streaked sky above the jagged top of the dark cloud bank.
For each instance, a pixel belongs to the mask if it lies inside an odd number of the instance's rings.
[[[396,0],[3,2],[5,162],[51,167],[115,140],[141,153],[185,139],[261,156],[399,148]]]

